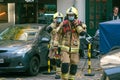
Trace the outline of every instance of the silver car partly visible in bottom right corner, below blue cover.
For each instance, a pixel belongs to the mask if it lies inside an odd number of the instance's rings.
[[[120,80],[120,46],[111,49],[100,59],[103,69],[101,80]]]

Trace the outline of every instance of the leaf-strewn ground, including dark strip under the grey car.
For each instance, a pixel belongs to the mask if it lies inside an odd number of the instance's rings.
[[[94,76],[84,76],[85,74],[88,74],[88,65],[87,63],[85,65],[85,59],[81,59],[78,64],[76,80],[100,80],[102,70],[99,66],[99,60],[92,59],[91,62],[91,74],[94,74]],[[25,73],[0,73],[0,80],[56,80],[54,78],[55,74],[43,74],[45,71],[47,71],[47,68],[42,68],[37,76],[27,76]]]

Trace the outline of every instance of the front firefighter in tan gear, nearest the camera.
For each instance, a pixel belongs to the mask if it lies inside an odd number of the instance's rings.
[[[57,28],[60,34],[61,77],[62,80],[75,80],[79,62],[79,36],[86,34],[86,25],[78,20],[78,10],[70,7],[66,19]]]

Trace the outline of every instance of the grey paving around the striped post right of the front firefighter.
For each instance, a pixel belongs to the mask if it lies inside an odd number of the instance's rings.
[[[100,80],[102,70],[99,65],[99,59],[91,59],[91,71],[94,76],[85,76],[85,74],[88,74],[87,59],[80,59],[76,80]]]

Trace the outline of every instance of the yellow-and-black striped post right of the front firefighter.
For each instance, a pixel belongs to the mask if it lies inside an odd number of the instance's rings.
[[[88,73],[85,76],[94,76],[91,70],[91,43],[88,44]]]

